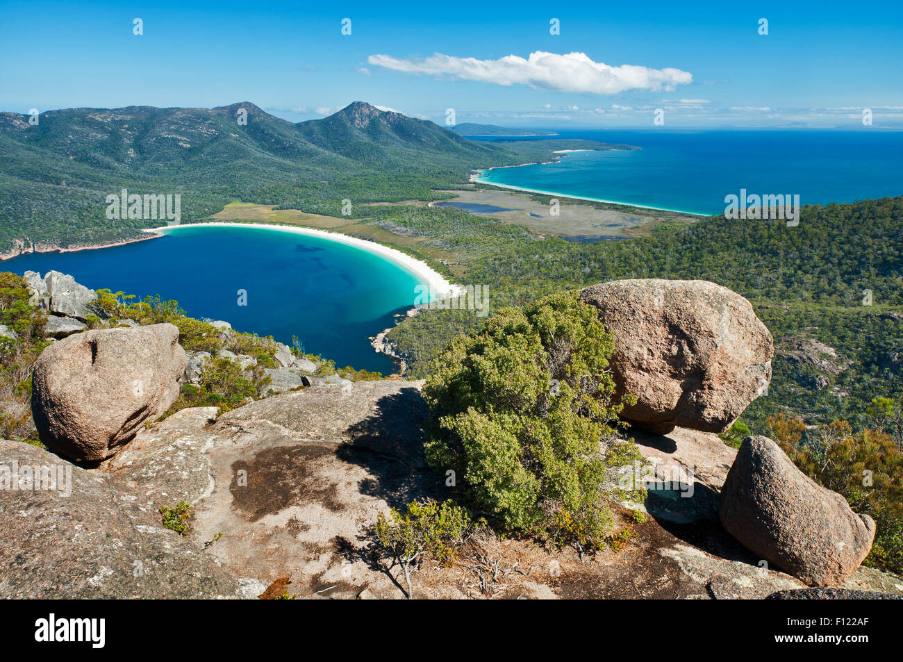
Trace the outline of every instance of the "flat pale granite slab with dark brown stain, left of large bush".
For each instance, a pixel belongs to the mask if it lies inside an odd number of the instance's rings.
[[[215,423],[213,407],[184,409],[139,433],[100,470],[145,512],[194,503],[191,538],[223,534],[208,553],[241,583],[284,584],[309,597],[365,589],[400,597],[389,575],[372,567],[366,532],[378,513],[443,487],[421,471],[421,384],[309,387]]]

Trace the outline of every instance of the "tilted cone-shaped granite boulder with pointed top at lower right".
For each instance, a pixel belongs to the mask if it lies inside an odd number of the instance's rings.
[[[747,437],[721,489],[721,524],[810,586],[838,586],[871,549],[875,523],[810,479],[768,437]]]

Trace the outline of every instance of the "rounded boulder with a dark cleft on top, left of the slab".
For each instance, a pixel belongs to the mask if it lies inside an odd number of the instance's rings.
[[[42,442],[75,461],[116,454],[179,395],[185,351],[172,324],[85,331],[34,365],[32,415]]]

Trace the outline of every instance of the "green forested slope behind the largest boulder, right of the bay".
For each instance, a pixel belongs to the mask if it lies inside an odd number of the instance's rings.
[[[616,278],[699,278],[743,294],[776,342],[768,396],[744,415],[759,429],[779,411],[811,423],[855,418],[872,397],[903,393],[903,197],[805,207],[796,227],[715,217],[592,244],[431,213],[406,210],[394,222],[452,251],[463,282],[489,284],[492,310]],[[419,377],[449,338],[480,322],[468,311],[424,311],[389,338]]]

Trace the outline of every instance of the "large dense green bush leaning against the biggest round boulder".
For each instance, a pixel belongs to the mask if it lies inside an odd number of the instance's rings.
[[[595,309],[573,293],[499,311],[431,366],[427,462],[454,471],[503,532],[600,549],[612,522],[610,468],[639,459],[614,438],[613,351]]]

